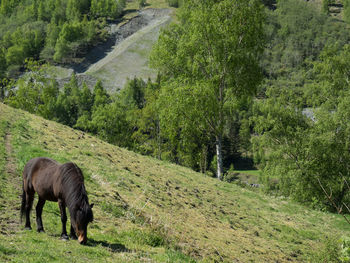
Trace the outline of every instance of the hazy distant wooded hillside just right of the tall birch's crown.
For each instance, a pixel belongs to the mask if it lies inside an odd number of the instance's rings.
[[[308,61],[316,61],[327,45],[343,46],[349,41],[346,24],[320,13],[307,1],[278,1],[277,9],[267,13],[269,41],[262,60],[267,80],[263,88],[302,87],[312,81]]]

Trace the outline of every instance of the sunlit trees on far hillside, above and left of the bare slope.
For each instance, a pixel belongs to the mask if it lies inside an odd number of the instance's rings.
[[[125,1],[98,2],[103,2],[101,15],[90,0],[1,1],[0,62],[5,58],[6,63],[0,74],[13,77],[27,58],[72,62],[104,40],[104,18],[120,16]]]

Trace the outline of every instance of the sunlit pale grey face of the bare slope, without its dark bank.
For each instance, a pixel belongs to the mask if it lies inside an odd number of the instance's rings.
[[[92,64],[85,74],[92,75],[102,81],[110,91],[124,87],[127,79],[141,77],[155,79],[156,71],[149,68],[149,53],[153,44],[157,41],[159,31],[170,22],[170,9],[146,9],[140,11],[140,15],[129,23],[141,17],[147,22],[146,26],[118,42],[111,51],[101,60]],[[142,22],[142,21],[141,21]],[[138,23],[136,21],[136,23]],[[132,26],[129,26],[132,27]]]

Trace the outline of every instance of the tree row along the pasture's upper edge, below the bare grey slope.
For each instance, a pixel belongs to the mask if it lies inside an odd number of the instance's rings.
[[[142,154],[181,163],[203,173],[210,168],[215,149],[210,146],[204,126],[196,119],[185,122],[169,109],[169,102],[175,103],[177,97],[169,93],[169,98],[160,98],[160,78],[156,83],[129,80],[120,94],[110,96],[101,82],[96,83],[93,92],[84,83],[79,86],[75,74],[59,91],[55,80],[45,76],[45,66],[41,68],[36,63],[28,67],[30,74],[16,84],[4,86],[4,90],[19,87],[11,90],[5,100],[11,106],[96,134]],[[186,112],[189,105],[176,107]],[[244,107],[239,108],[239,112],[244,111]],[[241,117],[238,114],[235,118],[226,127],[240,127]],[[239,156],[242,148],[239,143],[244,137],[234,130],[227,128],[225,132],[225,167]],[[249,140],[249,134],[244,136]]]

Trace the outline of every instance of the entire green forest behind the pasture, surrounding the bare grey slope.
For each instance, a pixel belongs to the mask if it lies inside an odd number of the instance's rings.
[[[75,74],[60,89],[46,69],[106,39],[125,1],[2,0],[0,100],[220,180],[258,169],[263,191],[339,212],[350,201],[350,2],[341,17],[327,0],[169,4],[179,8],[151,53],[157,79],[110,94]]]

